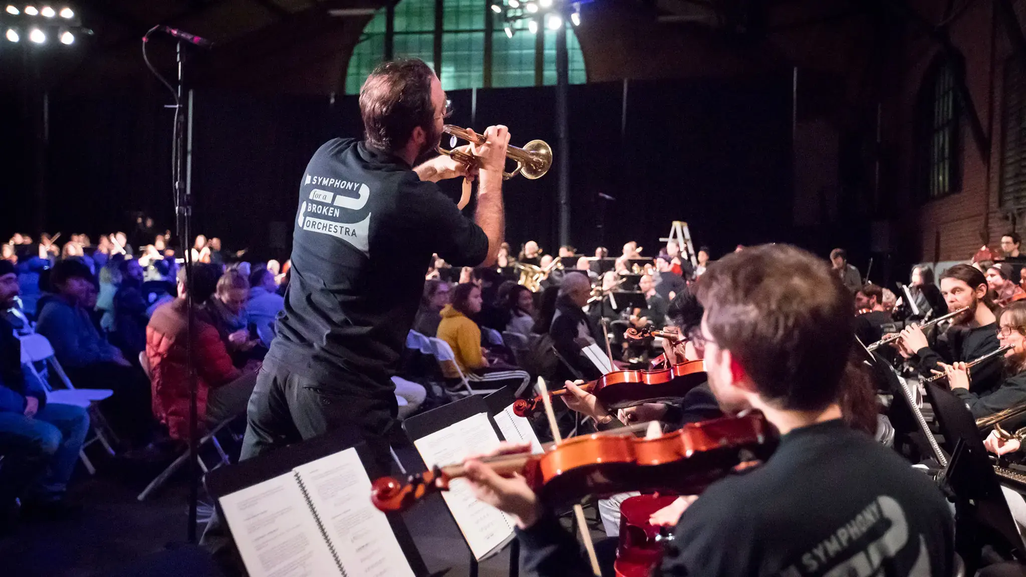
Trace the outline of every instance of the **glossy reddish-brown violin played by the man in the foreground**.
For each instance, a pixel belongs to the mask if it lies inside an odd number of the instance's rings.
[[[550,444],[537,455],[502,455],[481,462],[504,476],[523,475],[539,499],[558,509],[588,495],[624,491],[698,494],[735,467],[768,456],[773,429],[760,413],[684,425],[656,438],[592,433]],[[754,455],[754,457],[753,457]],[[371,501],[385,512],[408,509],[446,491],[465,474],[463,464],[374,480]]]

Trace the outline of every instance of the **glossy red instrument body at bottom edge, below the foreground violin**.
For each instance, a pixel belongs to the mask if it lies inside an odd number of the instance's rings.
[[[663,559],[661,527],[648,523],[653,513],[673,503],[675,495],[638,495],[620,504],[620,546],[614,571],[617,577],[648,577]]]

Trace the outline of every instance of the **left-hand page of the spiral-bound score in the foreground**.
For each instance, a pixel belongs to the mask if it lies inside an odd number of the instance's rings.
[[[322,577],[339,568],[291,472],[221,498],[250,577]]]

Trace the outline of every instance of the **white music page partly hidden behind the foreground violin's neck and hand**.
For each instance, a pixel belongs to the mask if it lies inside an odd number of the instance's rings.
[[[430,468],[459,463],[468,455],[486,453],[499,443],[499,435],[491,428],[487,414],[478,413],[421,437],[413,445]],[[452,479],[449,490],[442,491],[441,495],[478,561],[512,537],[513,518],[478,501],[466,479]]]

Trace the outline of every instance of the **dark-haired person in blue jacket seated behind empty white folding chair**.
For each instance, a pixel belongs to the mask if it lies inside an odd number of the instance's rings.
[[[50,274],[52,295],[39,301],[36,332],[49,340],[54,355],[77,388],[112,389],[100,408],[115,431],[134,448],[153,431],[150,383],[121,351],[108,343],[83,308],[93,288],[92,274],[81,261],[61,261]]]

